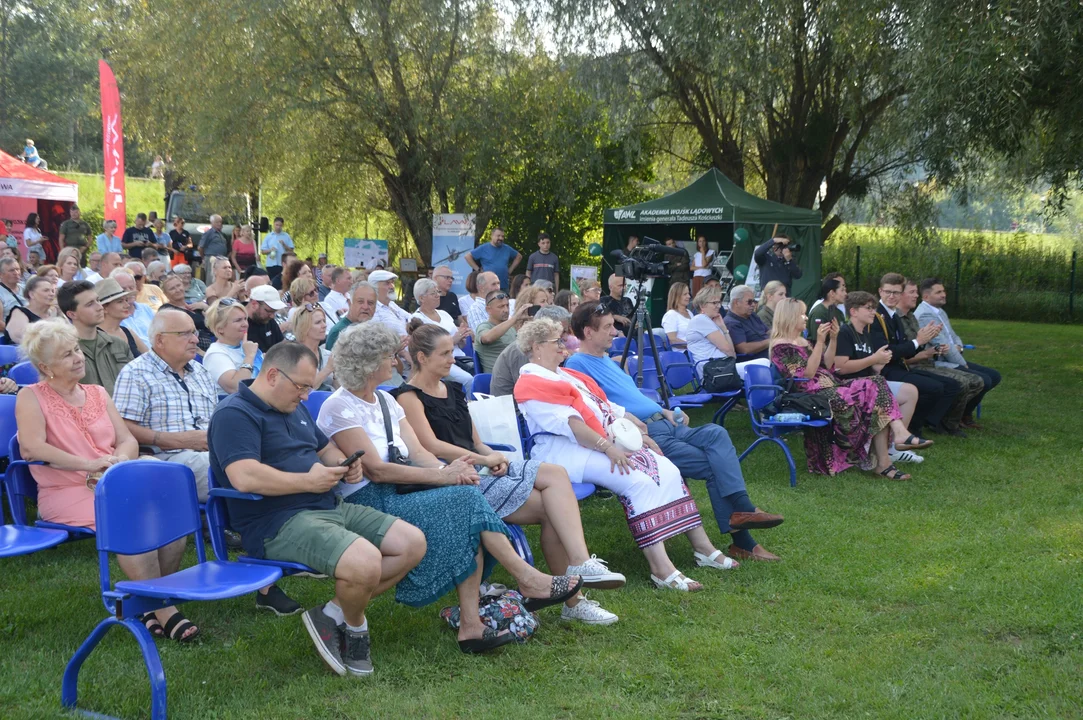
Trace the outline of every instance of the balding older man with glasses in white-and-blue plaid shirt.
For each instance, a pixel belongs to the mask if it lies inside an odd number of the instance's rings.
[[[218,387],[192,362],[199,333],[186,313],[166,309],[154,316],[149,352],[120,370],[113,394],[117,411],[141,446],[167,462],[192,469],[199,501],[207,500],[207,427]]]

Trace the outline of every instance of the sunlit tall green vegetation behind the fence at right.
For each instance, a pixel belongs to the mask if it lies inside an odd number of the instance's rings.
[[[854,278],[858,247],[861,276]],[[1027,233],[922,228],[914,234],[844,225],[824,245],[823,272],[843,273],[851,290],[870,292],[876,291],[880,276],[889,272],[917,282],[939,277],[948,289],[949,309],[958,317],[1081,323],[1081,277],[1077,278],[1074,316],[1068,313],[1072,249],[1064,238],[1051,240]]]

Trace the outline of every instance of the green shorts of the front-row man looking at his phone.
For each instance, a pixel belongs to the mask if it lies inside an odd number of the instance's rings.
[[[363,505],[340,502],[334,510],[302,510],[263,541],[268,560],[303,563],[335,577],[345,549],[362,537],[377,548],[397,518]]]

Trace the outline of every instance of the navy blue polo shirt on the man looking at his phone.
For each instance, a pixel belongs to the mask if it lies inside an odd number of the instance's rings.
[[[309,408],[298,405],[289,415],[279,413],[248,388],[250,382],[245,381],[237,392],[218,404],[207,430],[214,480],[231,489],[233,485],[225,469],[237,460],[258,460],[282,472],[304,473],[319,462],[317,453],[328,443],[309,415]],[[286,521],[302,510],[331,510],[336,500],[328,490],[225,502],[245,551],[262,558],[263,541],[277,535]]]

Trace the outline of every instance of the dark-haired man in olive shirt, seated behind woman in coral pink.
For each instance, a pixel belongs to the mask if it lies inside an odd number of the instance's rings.
[[[87,368],[82,382],[102,385],[113,395],[117,376],[134,357],[127,341],[99,327],[105,319],[105,309],[97,300],[94,285],[88,280],[65,283],[56,291],[56,304],[79,336]]]

